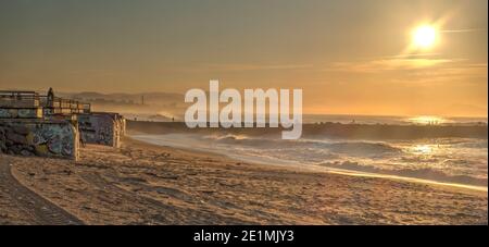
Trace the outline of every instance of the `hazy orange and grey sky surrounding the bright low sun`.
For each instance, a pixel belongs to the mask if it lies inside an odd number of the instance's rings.
[[[429,48],[412,47],[419,25]],[[486,0],[0,1],[0,89],[220,79],[302,88],[304,113],[487,116],[487,47]]]

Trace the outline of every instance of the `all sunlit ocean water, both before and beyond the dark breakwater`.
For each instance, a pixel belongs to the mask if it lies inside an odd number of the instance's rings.
[[[426,121],[426,122],[423,122]],[[486,125],[487,119],[388,118],[319,115],[304,122],[347,125]],[[222,153],[241,161],[396,176],[436,183],[488,187],[488,141],[471,137],[329,138],[308,135],[283,140],[279,136],[220,132],[138,134],[134,138],[155,145]]]

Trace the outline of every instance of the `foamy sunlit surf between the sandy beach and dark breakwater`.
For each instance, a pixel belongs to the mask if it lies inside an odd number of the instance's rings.
[[[319,165],[442,183],[488,185],[487,139],[283,140],[244,134],[166,134],[135,138],[220,152],[252,162]]]

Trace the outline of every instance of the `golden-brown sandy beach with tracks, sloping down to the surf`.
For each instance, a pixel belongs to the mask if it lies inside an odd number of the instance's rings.
[[[0,155],[0,224],[487,224],[487,192],[243,163],[126,137]]]

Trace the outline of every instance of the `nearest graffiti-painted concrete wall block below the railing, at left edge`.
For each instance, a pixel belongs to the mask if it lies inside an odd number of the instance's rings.
[[[78,132],[68,121],[0,121],[0,149],[22,156],[78,158]]]

